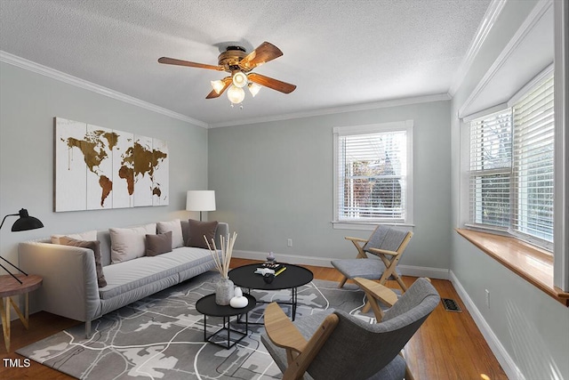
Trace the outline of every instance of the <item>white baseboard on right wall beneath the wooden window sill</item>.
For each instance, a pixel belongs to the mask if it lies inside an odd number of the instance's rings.
[[[506,351],[504,346],[501,344],[498,336],[494,334],[492,328],[484,317],[482,313],[478,310],[477,306],[472,302],[469,294],[466,292],[464,287],[462,287],[461,282],[459,279],[456,278],[453,271],[450,271],[450,279],[453,283],[454,289],[456,289],[456,293],[461,297],[462,302],[466,305],[466,308],[469,310],[472,319],[477,324],[478,329],[484,336],[486,343],[490,346],[490,350],[492,350],[496,360],[501,365],[501,368],[504,369],[506,375],[510,379],[518,379],[518,380],[525,380],[524,374],[517,368],[516,363],[512,358],[509,356],[509,353]]]

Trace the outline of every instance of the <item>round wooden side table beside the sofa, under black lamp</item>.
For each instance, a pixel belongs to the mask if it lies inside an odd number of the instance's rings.
[[[16,314],[20,317],[21,323],[28,329],[29,321],[29,292],[36,290],[42,286],[43,279],[35,274],[29,276],[17,274],[22,284],[12,278],[12,276],[0,276],[0,315],[2,316],[2,329],[4,330],[4,344],[6,351],[10,352],[10,305],[12,304]],[[20,307],[14,302],[12,296],[24,295],[25,297],[25,315],[20,311]]]

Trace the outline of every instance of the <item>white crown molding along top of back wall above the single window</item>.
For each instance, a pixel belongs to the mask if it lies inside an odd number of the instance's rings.
[[[329,109],[315,109],[306,112],[296,112],[296,113],[276,115],[270,117],[256,117],[246,120],[213,123],[210,124],[209,126],[210,128],[220,128],[224,126],[250,125],[250,124],[268,123],[273,121],[291,120],[294,118],[317,117],[325,115],[334,115],[345,112],[362,111],[368,109],[383,109],[389,107],[405,106],[409,104],[428,103],[431,101],[450,101],[450,100],[451,97],[449,96],[448,93],[437,93],[433,95],[415,96],[411,98],[393,99],[389,101],[374,101],[370,103],[354,104],[354,105],[334,107]]]

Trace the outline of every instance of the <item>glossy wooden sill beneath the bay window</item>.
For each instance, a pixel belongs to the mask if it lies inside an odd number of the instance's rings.
[[[456,229],[464,239],[480,248],[534,287],[569,306],[569,293],[553,286],[553,257],[518,239],[476,230]]]

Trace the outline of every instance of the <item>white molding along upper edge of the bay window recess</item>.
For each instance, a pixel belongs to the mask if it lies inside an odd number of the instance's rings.
[[[524,20],[517,32],[509,40],[509,43],[501,51],[496,61],[493,62],[492,66],[488,71],[486,71],[485,76],[482,77],[476,88],[470,93],[468,99],[464,101],[459,109],[459,117],[464,117],[466,109],[472,104],[473,101],[482,93],[489,83],[492,82],[493,77],[498,73],[501,67],[509,60],[509,57],[516,51],[517,47],[524,41],[525,36],[527,36],[532,29],[541,20],[541,17],[548,12],[549,8],[553,6],[553,0],[541,0],[535,5],[532,12]]]

